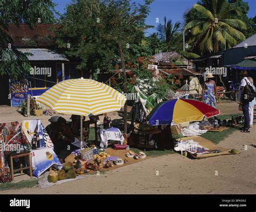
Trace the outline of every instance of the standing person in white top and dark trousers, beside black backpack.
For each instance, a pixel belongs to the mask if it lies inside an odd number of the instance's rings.
[[[246,70],[242,70],[240,72],[240,77],[242,80],[240,83],[241,97],[239,107],[242,107],[242,114],[244,114],[245,117],[245,124],[244,127],[241,129],[241,132],[250,132],[249,100],[247,97],[245,97],[245,86],[247,83],[250,83],[250,81],[247,78]]]

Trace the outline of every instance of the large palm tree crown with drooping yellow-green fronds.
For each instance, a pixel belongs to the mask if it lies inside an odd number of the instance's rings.
[[[231,48],[238,40],[245,39],[241,32],[246,30],[245,23],[232,18],[234,15],[240,16],[240,10],[232,8],[226,0],[212,0],[205,6],[194,4],[193,8],[200,13],[200,18],[185,26],[185,30],[191,30],[190,44],[193,50],[198,48],[201,54],[215,53],[225,44]]]

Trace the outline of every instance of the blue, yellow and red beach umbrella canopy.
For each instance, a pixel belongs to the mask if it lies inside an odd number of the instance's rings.
[[[219,115],[220,111],[203,102],[190,99],[164,101],[156,105],[147,116],[150,125],[201,121]]]

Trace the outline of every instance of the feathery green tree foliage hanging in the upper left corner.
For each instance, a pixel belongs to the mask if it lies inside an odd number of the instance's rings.
[[[31,29],[38,23],[54,22],[54,6],[51,0],[0,2],[0,75],[18,77],[29,72],[29,61],[25,54],[13,47],[8,35],[9,24],[27,24]]]

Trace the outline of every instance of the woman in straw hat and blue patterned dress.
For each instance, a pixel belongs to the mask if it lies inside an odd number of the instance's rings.
[[[203,84],[202,97],[203,102],[216,108],[217,88],[214,80],[211,80],[214,76],[212,73],[206,74],[207,80]]]

